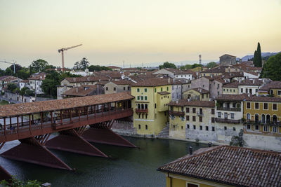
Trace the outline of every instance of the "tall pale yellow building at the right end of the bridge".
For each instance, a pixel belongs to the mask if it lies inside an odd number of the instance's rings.
[[[169,120],[169,78],[150,78],[131,85],[133,127],[137,134],[158,135]]]

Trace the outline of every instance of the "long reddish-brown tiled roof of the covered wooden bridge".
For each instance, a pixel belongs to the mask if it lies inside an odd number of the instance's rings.
[[[44,102],[29,102],[0,106],[0,118],[5,116],[20,116],[29,113],[44,111],[58,111],[72,109],[79,106],[90,106],[108,102],[119,102],[134,97],[129,92],[120,92],[107,95],[92,95],[86,97],[74,97],[68,99],[49,100]]]

